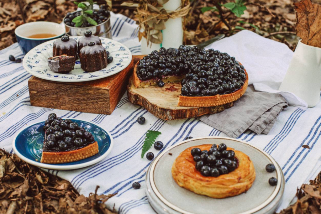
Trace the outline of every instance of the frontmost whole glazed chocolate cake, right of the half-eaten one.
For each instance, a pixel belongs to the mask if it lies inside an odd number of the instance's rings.
[[[89,42],[88,46],[80,50],[80,64],[84,71],[98,71],[107,66],[106,49],[94,42]]]

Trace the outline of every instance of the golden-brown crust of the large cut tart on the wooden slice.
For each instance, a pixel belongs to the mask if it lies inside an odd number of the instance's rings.
[[[139,64],[139,61],[135,64],[134,67],[134,74],[133,74],[133,83],[135,88],[145,88],[145,87],[149,87],[152,85],[156,85],[157,82],[156,80],[147,80],[147,81],[141,81],[138,76],[137,76],[137,66]],[[241,64],[241,63],[240,63]],[[242,64],[241,64],[242,65]],[[215,95],[215,96],[208,96],[208,97],[187,97],[187,96],[179,96],[178,98],[178,106],[184,106],[184,107],[210,107],[210,106],[221,106],[224,105],[226,103],[230,103],[233,102],[237,99],[239,99],[240,97],[243,96],[243,94],[245,93],[245,91],[247,90],[247,85],[248,85],[248,74],[245,71],[245,75],[246,75],[246,81],[244,83],[244,85],[237,91],[234,91],[233,93],[230,94],[223,94],[223,95]],[[164,78],[162,78],[162,81],[164,83],[168,83],[168,82],[177,82],[177,81],[181,81],[182,79],[184,79],[185,75],[181,75],[181,76],[166,76]]]

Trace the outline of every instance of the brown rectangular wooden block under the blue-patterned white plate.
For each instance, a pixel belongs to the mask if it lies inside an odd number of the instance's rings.
[[[133,67],[134,58],[123,71],[86,82],[56,82],[32,76],[28,81],[31,105],[109,115],[124,95]]]

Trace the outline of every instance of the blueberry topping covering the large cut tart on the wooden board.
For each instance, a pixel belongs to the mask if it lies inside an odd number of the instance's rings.
[[[214,96],[239,90],[246,81],[243,65],[235,57],[218,50],[198,47],[160,48],[140,60],[137,76],[154,79],[162,87],[162,77],[184,75],[183,96]]]

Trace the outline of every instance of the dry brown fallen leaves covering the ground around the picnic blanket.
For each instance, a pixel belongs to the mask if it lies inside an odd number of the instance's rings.
[[[321,0],[311,1],[321,4]],[[105,3],[104,0],[98,2]],[[113,0],[113,12],[134,18],[134,8],[121,6],[123,2],[128,0]],[[191,0],[192,9],[185,32],[186,44],[199,44],[217,34],[230,36],[244,28],[283,42],[292,50],[295,49],[299,37],[295,34],[293,3],[299,0],[248,0],[245,3],[247,10],[241,17],[236,17],[225,9],[221,13],[201,12],[204,7],[213,7],[214,2]],[[14,29],[24,22],[61,22],[67,12],[75,9],[76,6],[70,0],[1,0],[0,49],[16,42]],[[95,193],[89,197],[79,195],[68,181],[30,166],[17,156],[0,150],[0,213],[111,214],[113,212],[104,204],[111,196],[98,196]],[[321,213],[321,173],[314,181],[310,181],[310,184],[303,184],[297,190],[297,201],[282,210],[280,214],[319,213]]]

